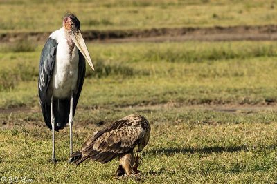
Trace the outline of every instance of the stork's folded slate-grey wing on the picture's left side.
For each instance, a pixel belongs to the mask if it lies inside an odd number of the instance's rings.
[[[39,103],[42,108],[42,114],[46,125],[51,128],[50,121],[50,98],[47,96],[49,83],[53,74],[53,68],[55,65],[57,52],[57,41],[55,39],[48,38],[39,61],[39,79],[38,79],[38,90],[39,90]]]

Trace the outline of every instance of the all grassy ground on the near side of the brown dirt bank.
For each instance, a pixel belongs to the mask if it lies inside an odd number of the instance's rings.
[[[67,127],[56,136],[59,163],[48,162],[51,132],[37,100],[42,45],[29,45],[26,52],[19,43],[0,47],[0,176],[35,183],[276,182],[277,109],[267,105],[277,99],[276,43],[89,43],[96,72],[87,68],[74,150],[106,123],[142,114],[152,133],[138,178],[117,178],[117,161],[66,163]]]

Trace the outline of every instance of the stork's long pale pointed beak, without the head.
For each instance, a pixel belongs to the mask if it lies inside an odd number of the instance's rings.
[[[80,30],[72,31],[72,32],[73,32],[73,37],[72,37],[73,42],[75,43],[77,48],[80,50],[80,52],[84,56],[84,59],[87,60],[87,63],[89,63],[92,70],[94,70],[93,63],[91,61],[91,57],[89,56],[89,50],[87,50],[86,43],[84,43],[84,39],[82,38],[82,34],[81,34]]]

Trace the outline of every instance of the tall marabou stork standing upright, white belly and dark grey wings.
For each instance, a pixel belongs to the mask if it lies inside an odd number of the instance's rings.
[[[70,154],[72,125],[85,74],[85,60],[92,70],[89,51],[80,32],[80,21],[74,14],[64,16],[63,27],[48,37],[39,62],[39,103],[44,121],[52,130],[52,161],[55,159],[55,130],[69,122]]]

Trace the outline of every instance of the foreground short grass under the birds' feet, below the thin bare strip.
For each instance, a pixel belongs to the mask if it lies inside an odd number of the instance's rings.
[[[143,114],[151,122],[150,143],[142,154],[139,178],[116,178],[118,161],[69,165],[68,127],[56,134],[58,164],[51,157],[51,132],[38,110],[0,114],[0,176],[26,176],[35,183],[274,183],[276,109],[235,114],[202,108],[78,109],[74,150],[89,135],[120,117]],[[97,125],[98,121],[104,125]]]

